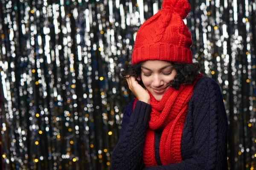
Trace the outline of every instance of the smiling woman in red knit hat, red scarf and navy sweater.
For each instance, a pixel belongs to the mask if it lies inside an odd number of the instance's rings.
[[[122,75],[136,96],[123,113],[112,170],[227,170],[218,84],[192,63],[187,0],[164,0],[140,27]]]

